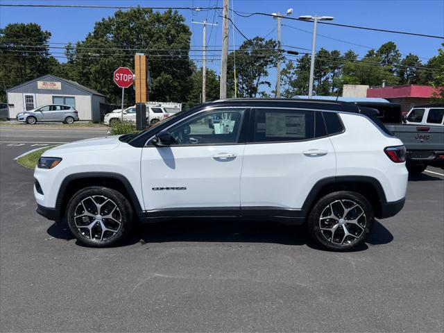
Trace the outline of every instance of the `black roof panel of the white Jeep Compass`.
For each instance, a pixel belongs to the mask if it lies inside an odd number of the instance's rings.
[[[205,106],[273,106],[282,108],[309,108],[309,109],[329,109],[335,111],[357,112],[359,107],[354,103],[343,101],[327,101],[323,99],[219,99],[217,101],[207,102],[198,105],[200,108]]]

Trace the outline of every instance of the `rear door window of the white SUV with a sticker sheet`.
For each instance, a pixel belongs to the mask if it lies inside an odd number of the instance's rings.
[[[254,142],[289,142],[325,136],[321,112],[256,109]]]

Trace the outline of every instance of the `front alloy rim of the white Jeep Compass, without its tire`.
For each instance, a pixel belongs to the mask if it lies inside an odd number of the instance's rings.
[[[80,201],[74,211],[76,228],[92,241],[114,237],[121,228],[121,219],[119,207],[106,196],[88,196]]]

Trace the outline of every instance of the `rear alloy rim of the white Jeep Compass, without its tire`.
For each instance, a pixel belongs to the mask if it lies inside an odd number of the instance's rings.
[[[349,245],[357,241],[366,229],[364,209],[354,200],[335,200],[321,213],[319,228],[334,245]]]

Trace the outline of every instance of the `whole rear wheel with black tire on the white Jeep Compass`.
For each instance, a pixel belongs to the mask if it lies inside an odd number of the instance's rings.
[[[354,205],[357,206],[352,208]],[[350,211],[345,213],[344,207]],[[332,216],[332,210],[334,217],[330,218],[328,216]],[[341,214],[343,216],[339,219]],[[316,243],[329,250],[343,251],[354,248],[364,241],[372,232],[374,222],[373,207],[364,196],[352,191],[337,191],[318,200],[309,214],[307,226]],[[321,225],[325,229],[321,230]],[[332,228],[334,231],[327,228]]]

